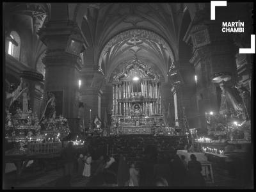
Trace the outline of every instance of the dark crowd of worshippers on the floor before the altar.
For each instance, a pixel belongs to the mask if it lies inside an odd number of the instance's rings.
[[[62,157],[67,160],[65,175],[71,178],[75,167],[78,177],[88,178],[86,186],[205,186],[202,166],[196,161],[196,156],[192,154],[190,159],[186,159],[177,155],[175,148],[159,152],[157,146],[147,145],[141,154],[140,164],[120,150],[115,156],[104,154],[103,150],[95,148],[92,143],[84,145],[76,154],[74,151],[72,142],[63,150]]]

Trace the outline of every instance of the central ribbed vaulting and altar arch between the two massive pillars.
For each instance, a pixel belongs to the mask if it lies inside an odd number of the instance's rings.
[[[108,80],[120,72],[120,63],[140,58],[165,81],[177,57],[183,11],[177,3],[89,4],[81,29],[93,51],[85,58]]]

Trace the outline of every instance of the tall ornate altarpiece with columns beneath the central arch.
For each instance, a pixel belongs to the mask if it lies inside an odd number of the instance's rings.
[[[111,132],[152,134],[164,127],[159,75],[138,60],[113,77]]]

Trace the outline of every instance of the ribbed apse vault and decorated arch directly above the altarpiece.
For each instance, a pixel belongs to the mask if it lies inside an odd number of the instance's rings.
[[[99,58],[100,70],[106,74],[107,80],[122,70],[121,63],[138,58],[161,74],[161,80],[165,81],[173,54],[166,41],[156,33],[145,29],[131,29],[111,38]]]

